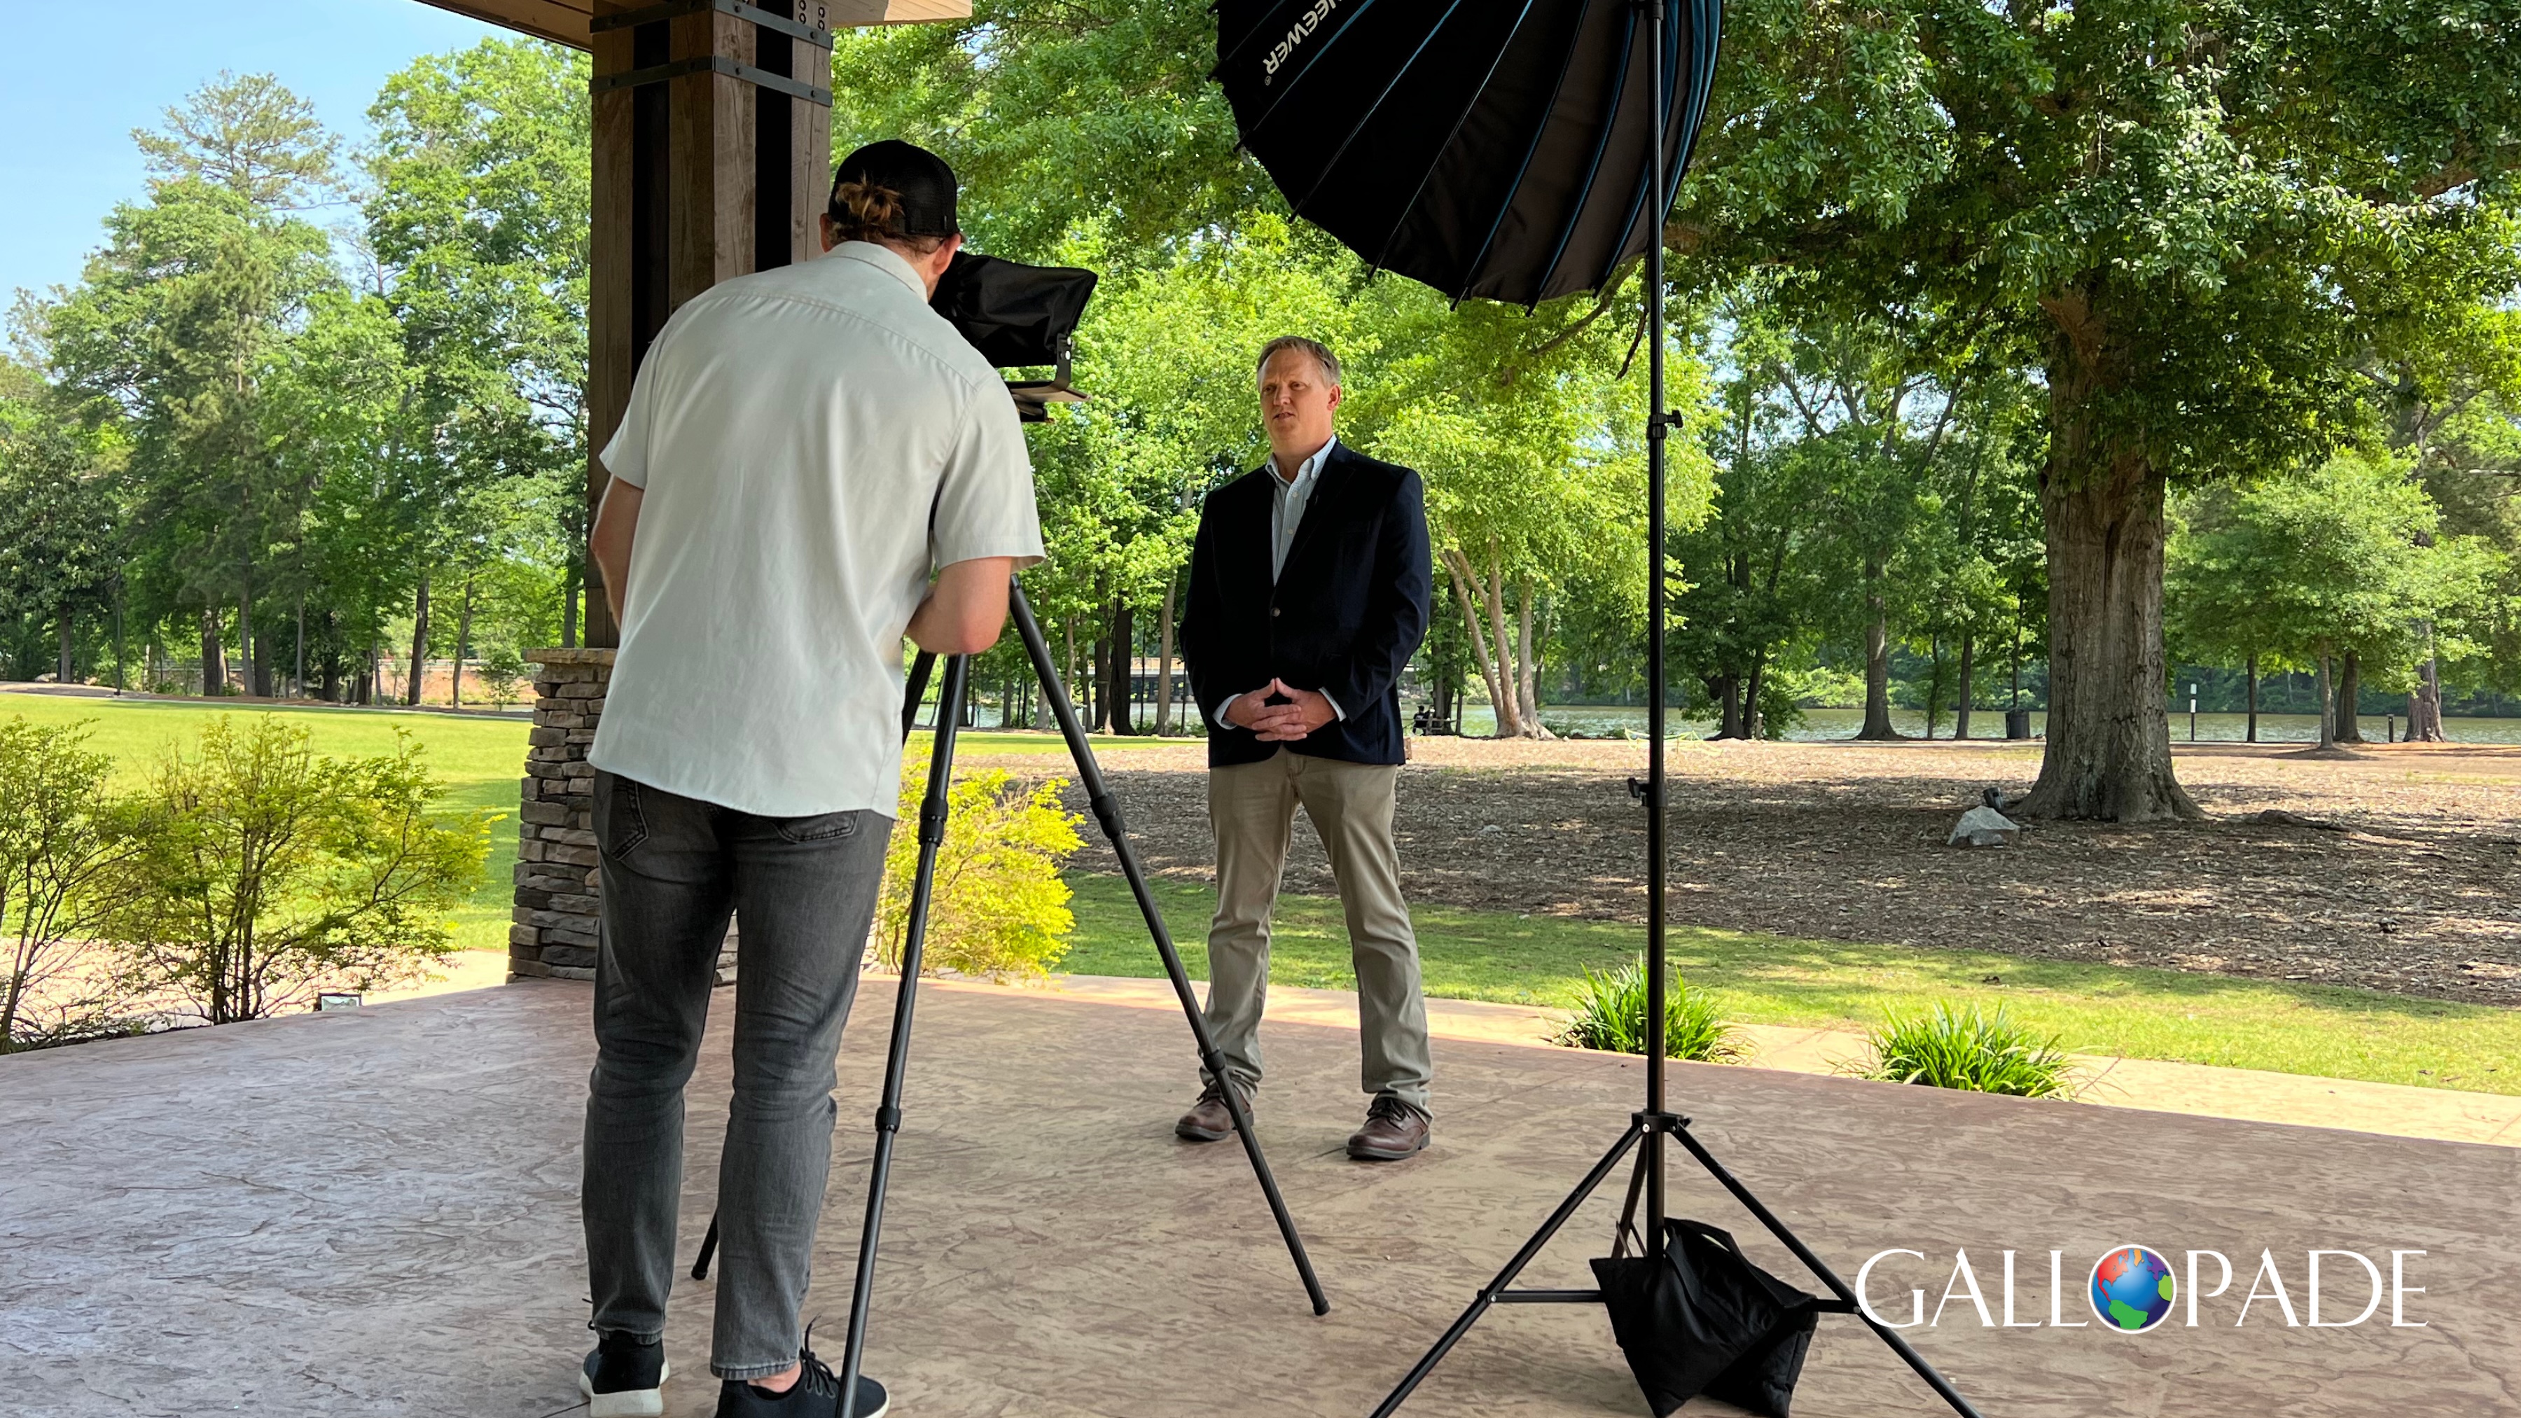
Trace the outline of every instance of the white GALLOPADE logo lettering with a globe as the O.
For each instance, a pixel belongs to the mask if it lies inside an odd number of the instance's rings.
[[[2002,1251],[1999,1267],[1992,1267],[1987,1282],[1982,1282],[1979,1269],[1969,1262],[1969,1251],[1956,1249],[1951,1251],[1951,1272],[1946,1272],[1944,1297],[1934,1304],[1934,1315],[1926,1312],[1926,1289],[1911,1287],[1908,1317],[1903,1320],[1898,1317],[1896,1299],[1891,1299],[1888,1315],[1876,1307],[1873,1269],[1883,1267],[1883,1282],[1898,1284],[1896,1277],[1901,1272],[1916,1279],[1929,1267],[1939,1272],[1941,1262],[1931,1262],[1926,1251],[1888,1249],[1876,1251],[1855,1272],[1855,1302],[1878,1325],[1893,1330],[1913,1330],[1918,1325],[1934,1330],[1944,1322],[1944,1312],[1959,1304],[1954,1317],[1976,1317],[1984,1330],[2085,1330],[2097,1322],[2103,1330],[2120,1335],[2143,1335],[2171,1320],[2183,1302],[2183,1327],[2188,1330],[2196,1330],[2201,1322],[2221,1325],[2221,1315],[2231,1315],[2234,1327],[2249,1325],[2251,1307],[2256,1307],[2261,1325],[2271,1325],[2282,1315],[2287,1327],[2352,1330],[2377,1317],[2385,1304],[2392,1330],[2423,1330],[2423,1320],[2408,1317],[2408,1297],[2425,1294],[2425,1287],[2408,1284],[2408,1262],[2423,1254],[2390,1251],[2387,1262],[2382,1262],[2362,1251],[2304,1251],[2297,1264],[2292,1251],[2279,1262],[2276,1251],[2266,1249],[2259,1251],[2249,1292],[2239,1297],[2239,1312],[2234,1312],[2229,1307],[2234,1304],[2231,1287],[2236,1274],[2231,1257],[2224,1251],[2188,1251],[2188,1264],[2173,1269],[2171,1259],[2153,1246],[2110,1246],[2092,1262],[2090,1272],[2082,1272],[2082,1267],[2067,1269],[2065,1251],[2050,1251],[2047,1287],[2039,1287],[2034,1272],[2024,1277],[2022,1294],[2017,1294],[2014,1251]],[[2385,1272],[2387,1282],[2382,1279]],[[2072,1289],[2082,1289],[2082,1304],[2070,1299]],[[2299,1307],[2294,1304],[2297,1297],[2302,1299]],[[2042,1299],[2047,1299],[2047,1320],[2039,1320]],[[2224,1299],[2224,1304],[2208,1310],[2208,1317],[2201,1320],[2198,1302],[2203,1299]],[[1999,1310],[2004,1320],[1997,1320]],[[2080,1310],[2090,1310],[2092,1320],[2067,1317]],[[2352,1317],[2347,1317],[2350,1310]]]

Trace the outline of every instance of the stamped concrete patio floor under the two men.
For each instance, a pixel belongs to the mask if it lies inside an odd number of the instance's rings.
[[[585,987],[529,981],[0,1060],[0,1410],[456,1413],[577,1405],[585,1320],[577,1108]],[[839,1347],[890,981],[842,1060],[842,1135],[814,1307]],[[686,1246],[711,1209],[726,1095],[713,1037],[693,1095]],[[1356,1166],[1354,1034],[1271,1029],[1263,1133],[1334,1299],[1316,1320],[1243,1158],[1170,1135],[1190,1090],[1177,1017],[1056,994],[923,999],[870,1370],[903,1418],[1361,1418],[1636,1103],[1616,1057],[1439,1040],[1427,1156]],[[1982,1330],[1966,1299],[1916,1330],[1989,1415],[2521,1413],[2521,1151],[1679,1067],[1699,1133],[1893,1317],[1934,1307],[1966,1246],[2002,1322],[2047,1320],[2125,1241],[2234,1257],[2201,1325]],[[1780,1246],[1694,1171],[1676,1209]],[[1538,1284],[1583,1284],[1616,1196]],[[2261,1249],[2304,1307],[2304,1251],[2420,1249],[2405,1317],[2287,1327]],[[2208,1262],[2211,1279],[2211,1262]],[[2367,1284],[2332,1259],[2324,1312]],[[708,1287],[668,1335],[668,1410],[708,1413]],[[2065,1320],[2085,1317],[2080,1294]],[[2304,1315],[2307,1320],[2307,1315]],[[1692,1405],[1699,1413],[1707,1405]],[[1719,1408],[1707,1408],[1719,1410]],[[1825,1320],[1797,1418],[1936,1413],[1853,1320]],[[1495,1312],[1409,1413],[1646,1413],[1593,1310]]]

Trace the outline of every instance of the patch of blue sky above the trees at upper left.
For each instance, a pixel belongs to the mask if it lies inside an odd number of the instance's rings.
[[[280,76],[358,144],[388,73],[489,33],[418,0],[0,0],[0,300],[78,280],[144,192],[131,129],[222,68]]]

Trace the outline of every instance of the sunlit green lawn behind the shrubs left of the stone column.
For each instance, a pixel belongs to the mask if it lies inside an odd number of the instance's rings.
[[[118,787],[139,787],[169,744],[189,744],[217,714],[287,714],[308,727],[313,747],[325,757],[368,757],[393,752],[393,732],[406,729],[429,754],[429,772],[446,785],[456,810],[492,810],[489,863],[482,886],[456,911],[456,944],[464,949],[507,949],[507,921],[517,863],[517,780],[524,777],[524,717],[456,717],[398,709],[267,709],[184,704],[166,699],[71,699],[55,694],[0,694],[0,714],[38,724],[93,719],[88,744],[113,754]]]

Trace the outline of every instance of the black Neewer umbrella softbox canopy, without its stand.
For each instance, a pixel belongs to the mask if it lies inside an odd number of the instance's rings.
[[[1717,63],[1717,0],[1223,0],[1243,146],[1382,270],[1455,300],[1596,290],[1664,222]],[[1651,209],[1649,209],[1651,207]]]

